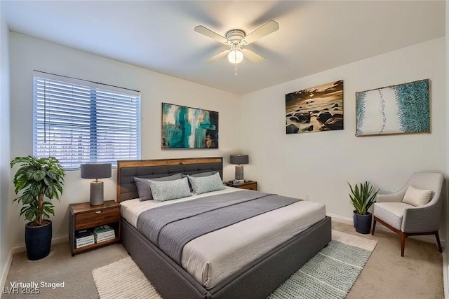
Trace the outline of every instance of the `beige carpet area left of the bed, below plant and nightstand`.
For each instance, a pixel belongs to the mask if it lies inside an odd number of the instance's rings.
[[[98,299],[92,270],[126,256],[129,255],[121,244],[113,244],[72,257],[69,242],[52,244],[50,254],[41,260],[28,260],[26,252],[15,253],[5,287],[15,282],[26,284],[34,281],[39,284],[39,294],[6,291],[1,295],[1,299]],[[64,287],[41,287],[41,283],[62,282]]]

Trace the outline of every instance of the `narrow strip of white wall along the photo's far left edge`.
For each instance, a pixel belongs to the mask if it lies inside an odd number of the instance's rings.
[[[0,4],[0,284],[4,285],[11,263],[11,232],[8,221],[11,218],[9,186],[11,182],[10,162],[10,115],[9,115],[9,30],[3,18]]]

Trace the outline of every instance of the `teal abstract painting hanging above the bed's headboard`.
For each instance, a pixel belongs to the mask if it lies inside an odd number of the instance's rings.
[[[218,112],[162,103],[162,148],[218,148]]]

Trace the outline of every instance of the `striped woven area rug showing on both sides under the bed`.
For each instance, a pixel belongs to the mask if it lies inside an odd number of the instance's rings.
[[[377,242],[332,231],[332,241],[297,270],[268,299],[344,298]],[[92,272],[100,299],[162,299],[128,257]]]

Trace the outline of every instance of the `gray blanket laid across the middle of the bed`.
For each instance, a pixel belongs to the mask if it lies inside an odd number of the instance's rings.
[[[182,248],[192,239],[298,201],[293,197],[241,190],[143,211],[137,228],[181,264]]]

